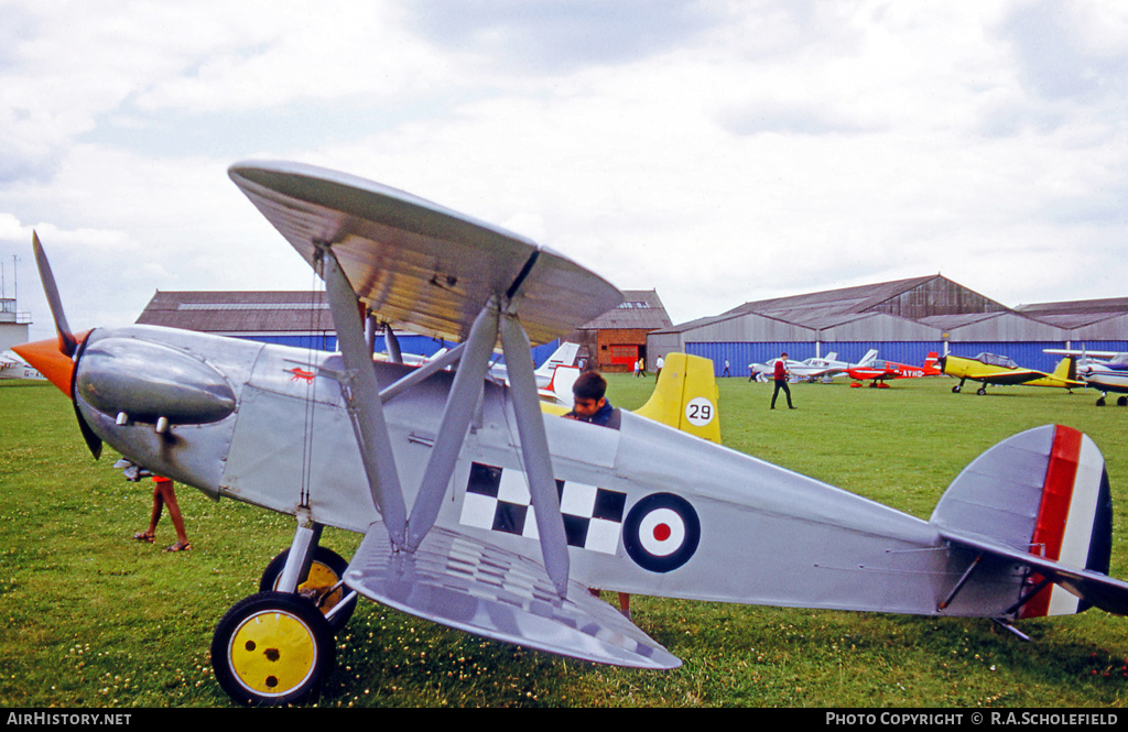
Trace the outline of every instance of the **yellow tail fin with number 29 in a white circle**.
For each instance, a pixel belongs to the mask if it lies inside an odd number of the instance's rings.
[[[713,442],[721,442],[713,362],[685,353],[667,354],[650,400],[635,414]]]

